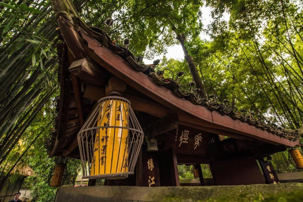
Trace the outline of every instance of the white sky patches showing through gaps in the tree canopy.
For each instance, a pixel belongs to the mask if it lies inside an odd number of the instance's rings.
[[[204,28],[206,29],[207,26],[212,22],[211,8],[203,6],[201,8],[201,12],[202,12],[202,23],[203,23]],[[223,14],[223,19],[225,21],[228,21],[229,14],[224,13]],[[201,32],[200,37],[201,37],[201,39],[204,39],[204,40],[210,40],[210,36],[207,35],[203,31]],[[148,60],[148,59],[145,58],[145,59],[143,59],[143,61],[144,61],[145,64],[151,64],[155,59],[163,58],[163,55],[164,54],[155,55],[154,59]],[[183,53],[181,45],[173,45],[173,46],[168,47],[167,53],[165,54],[165,56],[166,56],[167,59],[173,58],[175,60],[182,60],[184,58],[184,53]]]

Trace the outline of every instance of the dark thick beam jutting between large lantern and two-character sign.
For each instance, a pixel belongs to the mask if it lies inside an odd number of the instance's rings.
[[[148,127],[145,128],[144,133],[147,134],[148,137],[155,137],[157,135],[176,129],[178,125],[178,114],[172,113],[149,124]]]

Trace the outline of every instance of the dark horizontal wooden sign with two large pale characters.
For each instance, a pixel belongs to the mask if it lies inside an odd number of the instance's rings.
[[[205,156],[211,133],[179,125],[169,134],[165,148],[174,146],[177,154]]]

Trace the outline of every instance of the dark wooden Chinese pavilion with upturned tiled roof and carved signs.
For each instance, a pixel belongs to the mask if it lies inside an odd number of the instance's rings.
[[[105,185],[180,186],[178,164],[195,165],[201,185],[199,164],[210,164],[213,185],[278,182],[264,158],[298,145],[298,131],[252,121],[233,106],[182,91],[177,79],[153,72],[157,61],[143,65],[128,51],[127,40],[116,44],[105,31],[85,25],[70,1],[60,2],[53,3],[64,42],[57,44],[60,96],[46,144],[50,157],[80,159],[77,134],[98,100],[115,92],[129,101],[144,141],[134,174],[107,179]]]

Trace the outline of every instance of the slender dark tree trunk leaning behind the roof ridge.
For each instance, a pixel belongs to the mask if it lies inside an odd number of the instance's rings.
[[[189,71],[191,73],[191,76],[194,79],[194,81],[196,82],[196,88],[200,88],[201,90],[203,90],[205,92],[205,88],[204,88],[204,85],[202,84],[202,81],[201,81],[200,75],[198,73],[197,66],[195,64],[194,58],[191,55],[188,54],[188,51],[185,47],[186,38],[181,33],[177,33],[174,26],[173,26],[172,29],[175,31],[175,33],[177,35],[177,39],[178,39],[178,41],[180,42],[180,44],[182,46],[182,49],[183,49],[183,52],[184,52],[184,58],[188,63],[188,67],[189,67]],[[201,93],[200,95],[201,95],[202,98],[205,98],[204,93]]]

